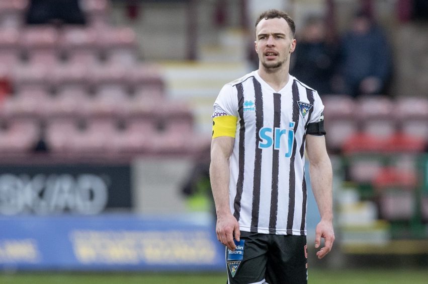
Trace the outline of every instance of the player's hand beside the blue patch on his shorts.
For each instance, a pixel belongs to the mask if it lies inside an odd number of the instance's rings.
[[[233,242],[233,235],[239,242],[241,233],[239,232],[239,224],[232,214],[217,215],[216,226],[217,240],[224,244],[230,250],[235,250],[236,246]]]

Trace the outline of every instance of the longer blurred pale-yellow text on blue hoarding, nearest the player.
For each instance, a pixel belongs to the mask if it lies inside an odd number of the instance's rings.
[[[215,244],[205,231],[74,231],[77,260],[85,264],[213,264]]]

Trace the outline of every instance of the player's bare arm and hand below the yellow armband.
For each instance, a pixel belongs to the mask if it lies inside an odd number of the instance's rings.
[[[239,241],[239,224],[229,207],[229,158],[235,139],[229,136],[213,138],[211,142],[210,180],[213,192],[217,224],[217,239],[229,249],[236,248],[233,234]]]

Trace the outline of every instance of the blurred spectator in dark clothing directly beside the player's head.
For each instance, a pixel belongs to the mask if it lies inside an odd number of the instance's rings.
[[[336,55],[337,49],[325,40],[324,19],[309,16],[301,37],[297,38],[290,74],[314,88],[319,94],[329,94],[336,67]]]

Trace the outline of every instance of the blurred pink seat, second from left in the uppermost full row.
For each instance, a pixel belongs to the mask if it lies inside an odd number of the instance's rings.
[[[49,65],[58,60],[58,32],[53,26],[23,29],[20,44],[32,63]]]

